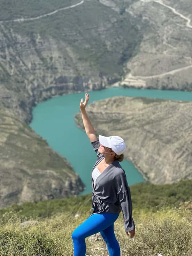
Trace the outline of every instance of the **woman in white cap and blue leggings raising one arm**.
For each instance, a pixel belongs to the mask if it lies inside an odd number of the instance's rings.
[[[85,93],[85,101],[80,102],[80,111],[85,132],[97,153],[97,161],[91,173],[93,213],[72,233],[74,256],[85,256],[85,238],[100,232],[107,244],[110,256],[120,256],[120,247],[114,233],[114,222],[121,210],[124,216],[124,228],[127,235],[135,235],[132,218],[132,200],[126,175],[119,162],[123,161],[125,151],[124,140],[119,136],[101,136],[99,140],[89,120],[85,107],[89,94]]]

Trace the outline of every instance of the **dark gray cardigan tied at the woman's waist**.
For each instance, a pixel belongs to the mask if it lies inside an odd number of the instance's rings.
[[[91,142],[93,149],[97,153],[97,161],[93,169],[104,158],[104,155],[98,152],[100,147],[99,140]],[[92,171],[93,171],[92,169]],[[127,183],[126,175],[117,160],[102,172],[95,181],[95,188],[92,180],[92,207],[93,214],[102,212],[120,213],[123,212],[125,231],[135,229],[132,218],[132,200],[130,188]],[[96,209],[96,210],[95,210]],[[90,215],[90,216],[91,216]]]

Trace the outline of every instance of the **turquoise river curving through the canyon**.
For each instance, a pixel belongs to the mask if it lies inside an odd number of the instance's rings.
[[[88,104],[114,96],[192,100],[192,92],[119,87],[91,91],[89,95]],[[53,150],[67,158],[74,171],[80,176],[85,185],[85,190],[79,196],[92,192],[91,171],[96,161],[95,151],[92,149],[86,133],[76,126],[74,118],[74,115],[79,112],[81,98],[85,99],[85,92],[67,94],[38,103],[33,109],[33,120],[30,123],[30,127],[46,139]],[[145,182],[140,172],[131,162],[124,159],[121,165],[125,170],[129,186]]]

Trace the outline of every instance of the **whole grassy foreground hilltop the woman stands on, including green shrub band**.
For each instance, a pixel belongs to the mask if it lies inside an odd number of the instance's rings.
[[[123,214],[114,228],[122,256],[191,256],[192,181],[149,182],[130,187],[136,234],[124,232]],[[71,234],[92,213],[91,194],[0,210],[0,255],[73,256]],[[20,226],[26,220],[35,225]],[[100,233],[85,239],[87,255],[108,255]]]

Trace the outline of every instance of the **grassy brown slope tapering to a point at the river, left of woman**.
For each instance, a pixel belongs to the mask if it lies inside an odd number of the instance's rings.
[[[46,140],[0,107],[0,207],[77,195],[84,184]]]

